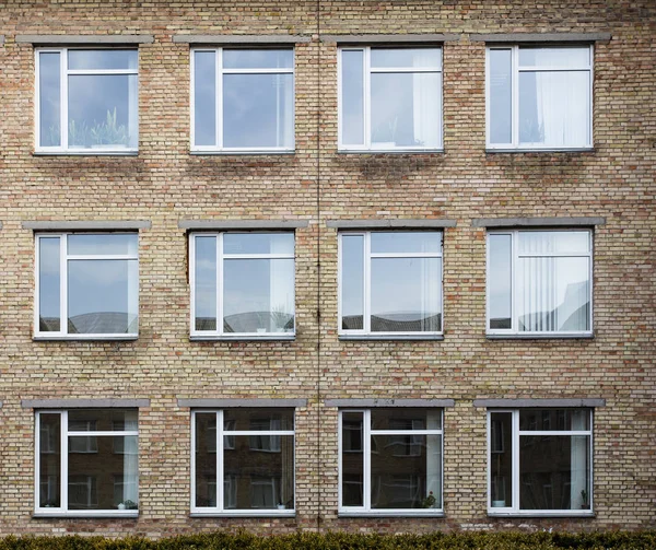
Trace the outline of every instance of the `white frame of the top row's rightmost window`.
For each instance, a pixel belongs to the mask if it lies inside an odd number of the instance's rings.
[[[520,61],[520,52],[527,49],[539,49],[539,46],[519,46],[519,45],[504,45],[504,46],[488,46],[485,50],[485,147],[489,150],[544,150],[544,151],[561,151],[561,150],[578,150],[578,149],[591,149],[593,148],[593,81],[594,81],[594,46],[593,45],[578,45],[578,46],[544,46],[543,49],[551,50],[566,50],[566,49],[583,49],[588,50],[587,59],[585,61],[577,60],[575,63],[523,63]],[[506,142],[492,140],[492,114],[493,112],[499,113],[492,105],[491,98],[491,54],[493,51],[507,51],[509,52],[509,116],[511,116],[511,139]],[[539,141],[520,141],[520,128],[519,128],[519,75],[522,73],[557,73],[557,72],[587,72],[588,85],[587,85],[587,109],[583,109],[586,114],[586,138],[578,140],[577,142],[565,143],[565,144],[553,144],[544,143]],[[537,92],[536,92],[537,94]],[[536,96],[536,102],[538,97]],[[577,109],[581,110],[581,109]]]

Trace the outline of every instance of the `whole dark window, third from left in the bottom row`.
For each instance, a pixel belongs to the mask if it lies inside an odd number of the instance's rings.
[[[342,410],[339,512],[442,512],[442,409]]]

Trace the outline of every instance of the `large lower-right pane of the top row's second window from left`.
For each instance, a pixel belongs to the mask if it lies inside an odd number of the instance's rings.
[[[223,75],[223,145],[294,145],[293,74]]]

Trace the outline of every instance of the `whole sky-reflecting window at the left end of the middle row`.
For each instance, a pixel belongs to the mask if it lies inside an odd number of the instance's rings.
[[[36,236],[35,337],[137,338],[136,233]]]

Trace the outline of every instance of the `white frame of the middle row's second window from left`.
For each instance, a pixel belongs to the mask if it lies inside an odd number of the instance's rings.
[[[292,234],[294,251],[290,254],[223,254],[223,235],[231,233]],[[196,329],[196,237],[216,237],[216,330]],[[296,336],[296,235],[290,231],[224,231],[189,233],[189,285],[191,294],[189,333],[197,340],[293,340]],[[292,259],[294,260],[294,330],[289,332],[224,332],[223,330],[223,260],[226,259]]]

